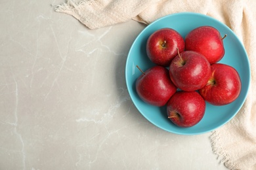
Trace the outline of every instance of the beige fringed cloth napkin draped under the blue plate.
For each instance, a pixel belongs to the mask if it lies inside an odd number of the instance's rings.
[[[228,25],[244,43],[251,65],[251,86],[242,109],[212,132],[211,144],[229,169],[256,169],[256,1],[242,0],[87,0],[67,1],[57,12],[74,16],[91,29],[127,20],[150,24],[176,12],[198,12]],[[243,76],[243,75],[241,75]]]

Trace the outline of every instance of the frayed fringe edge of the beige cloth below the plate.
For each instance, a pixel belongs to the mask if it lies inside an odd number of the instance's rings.
[[[239,169],[234,165],[233,161],[230,160],[229,154],[224,152],[223,146],[219,144],[219,139],[221,137],[219,136],[219,132],[213,131],[210,139],[211,139],[211,148],[213,150],[213,153],[217,155],[217,159],[221,160],[221,163],[224,163],[224,165],[228,169]]]

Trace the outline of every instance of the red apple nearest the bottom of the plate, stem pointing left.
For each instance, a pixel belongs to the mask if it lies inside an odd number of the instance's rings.
[[[176,92],[167,103],[167,116],[179,127],[192,127],[205,114],[205,101],[196,91]]]

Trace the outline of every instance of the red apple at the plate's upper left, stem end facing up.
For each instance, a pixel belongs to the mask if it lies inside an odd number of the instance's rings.
[[[184,51],[185,42],[180,33],[171,28],[158,29],[146,42],[148,58],[156,65],[167,67],[177,56],[177,48]]]

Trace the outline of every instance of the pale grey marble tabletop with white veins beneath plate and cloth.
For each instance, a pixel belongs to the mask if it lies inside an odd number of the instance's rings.
[[[168,133],[133,105],[125,62],[146,25],[90,30],[60,3],[0,3],[0,169],[225,169],[211,133]]]

